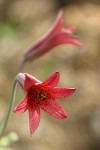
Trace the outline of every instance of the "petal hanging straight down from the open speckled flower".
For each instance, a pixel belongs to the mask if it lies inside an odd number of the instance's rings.
[[[40,122],[40,108],[37,105],[30,105],[28,107],[29,111],[29,128],[31,135],[39,126]]]

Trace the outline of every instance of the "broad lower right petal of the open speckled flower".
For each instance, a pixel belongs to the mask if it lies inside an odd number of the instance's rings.
[[[48,100],[48,102],[40,105],[41,109],[47,112],[49,115],[64,120],[67,118],[67,114],[64,109],[53,99]]]

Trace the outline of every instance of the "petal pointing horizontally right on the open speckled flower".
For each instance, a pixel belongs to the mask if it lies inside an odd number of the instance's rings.
[[[62,99],[71,96],[76,88],[53,88],[52,96],[55,99]]]

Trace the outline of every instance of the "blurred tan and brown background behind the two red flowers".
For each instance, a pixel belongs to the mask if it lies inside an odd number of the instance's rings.
[[[42,81],[58,70],[59,86],[78,88],[72,97],[59,100],[69,118],[60,121],[41,111],[31,138],[28,113],[12,113],[6,133],[18,133],[20,140],[11,146],[15,150],[100,150],[99,0],[0,0],[0,120],[23,53],[48,31],[60,8],[63,25],[75,27],[82,47],[56,47],[24,69]],[[21,97],[19,90],[16,104]]]

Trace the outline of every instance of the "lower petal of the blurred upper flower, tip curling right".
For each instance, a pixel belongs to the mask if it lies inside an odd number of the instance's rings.
[[[66,31],[58,32],[54,34],[51,38],[47,39],[41,47],[39,46],[38,49],[35,49],[30,53],[30,58],[40,57],[41,55],[47,53],[48,51],[52,50],[54,47],[59,46],[61,44],[73,44],[75,46],[80,47],[80,41],[77,38],[69,37]]]

